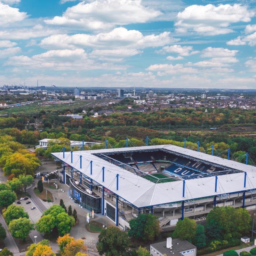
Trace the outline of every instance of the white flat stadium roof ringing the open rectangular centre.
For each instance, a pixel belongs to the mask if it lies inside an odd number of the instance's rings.
[[[111,164],[108,161],[94,156],[99,153],[115,153],[138,150],[164,149],[170,153],[182,154],[185,157],[193,157],[201,161],[224,166],[227,170],[239,170],[242,172],[219,175],[217,183],[217,193],[215,190],[215,176],[186,180],[185,196],[182,197],[183,180],[176,180],[165,183],[154,183],[146,180],[122,167]],[[241,164],[232,160],[211,156],[190,149],[185,149],[173,145],[158,145],[132,148],[114,148],[87,151],[73,151],[73,163],[71,163],[71,152],[52,153],[53,156],[65,162],[101,186],[109,189],[125,201],[141,208],[153,205],[175,203],[196,198],[250,191],[256,188],[256,167]],[[80,155],[82,156],[82,168],[80,168]],[[92,175],[90,175],[90,161],[92,160]],[[105,167],[104,182],[102,182],[102,167]],[[244,188],[244,172],[246,176],[246,188]],[[119,189],[116,190],[116,174],[119,174]],[[182,177],[181,177],[182,178]]]

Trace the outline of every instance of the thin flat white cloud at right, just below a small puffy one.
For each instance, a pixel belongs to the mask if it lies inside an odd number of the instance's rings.
[[[188,62],[189,66],[198,67],[229,67],[228,63],[236,63],[238,60],[234,57],[216,57],[210,60],[198,61],[196,63]]]

